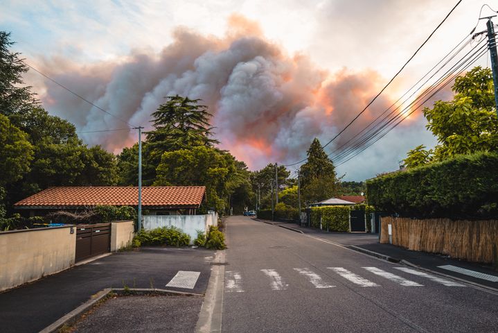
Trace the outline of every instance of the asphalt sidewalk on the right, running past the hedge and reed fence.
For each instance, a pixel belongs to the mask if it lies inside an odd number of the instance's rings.
[[[401,264],[406,264],[407,266],[417,266],[418,268],[422,268],[427,271],[432,271],[434,273],[447,275],[452,278],[465,280],[466,282],[479,284],[481,286],[496,289],[496,291],[498,291],[498,271],[493,269],[492,266],[466,262],[465,260],[452,259],[444,255],[406,250],[404,248],[393,246],[391,244],[379,244],[378,234],[326,232],[315,228],[301,227],[296,223],[283,223],[278,221],[274,222],[263,220],[256,221],[269,223],[295,232],[301,232],[303,234],[309,234],[313,237],[326,239],[328,241],[340,244],[341,246],[346,246],[347,248],[350,248],[352,250],[357,250],[368,255],[373,255],[374,257],[386,259],[391,262],[400,262]],[[470,271],[465,271],[465,273],[471,274],[473,276],[456,271],[450,271],[448,269],[441,268],[441,266],[447,266],[447,268],[456,269],[461,272],[463,271],[460,268],[463,268],[463,270]],[[495,281],[485,280],[484,278]]]

